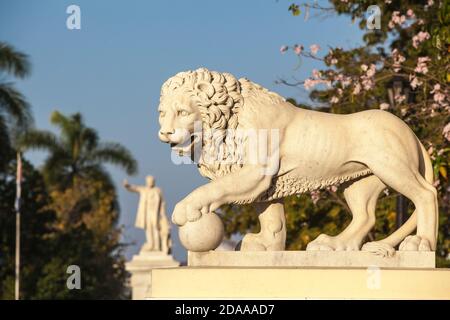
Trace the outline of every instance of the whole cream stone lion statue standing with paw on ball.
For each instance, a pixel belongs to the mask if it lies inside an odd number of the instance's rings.
[[[240,250],[284,250],[283,198],[340,185],[351,223],[336,236],[320,235],[307,250],[392,255],[400,243],[399,250],[406,251],[436,248],[438,204],[431,161],[413,131],[391,113],[305,110],[250,80],[200,68],[163,84],[159,123],[160,140],[176,152],[194,158],[200,150],[200,173],[211,180],[175,206],[172,221],[179,226],[223,204],[254,203],[261,231],[245,235]],[[250,161],[248,136],[233,133],[255,130],[277,132],[277,139],[268,139],[276,144],[275,152],[262,163]],[[245,152],[229,161],[239,148]],[[387,187],[411,199],[415,211],[387,238],[363,245],[375,224],[377,198]]]

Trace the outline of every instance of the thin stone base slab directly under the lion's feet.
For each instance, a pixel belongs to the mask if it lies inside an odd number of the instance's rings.
[[[367,251],[189,252],[188,266],[434,268],[435,253],[396,251],[382,257]]]

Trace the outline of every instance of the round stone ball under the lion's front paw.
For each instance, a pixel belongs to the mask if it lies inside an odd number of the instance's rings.
[[[223,240],[222,220],[213,212],[203,214],[199,220],[186,222],[179,230],[183,247],[193,252],[205,252],[216,249]]]

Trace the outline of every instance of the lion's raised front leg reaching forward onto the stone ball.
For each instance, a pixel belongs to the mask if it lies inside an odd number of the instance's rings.
[[[270,187],[272,177],[263,166],[244,166],[237,172],[195,189],[175,206],[172,221],[184,225],[187,221],[198,220],[202,214],[212,212],[223,204],[252,202]]]

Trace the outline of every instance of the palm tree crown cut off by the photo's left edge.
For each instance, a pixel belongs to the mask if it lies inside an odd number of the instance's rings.
[[[10,77],[25,78],[30,69],[27,55],[0,42],[0,165],[11,151],[11,137],[33,122],[29,104],[10,81]]]

